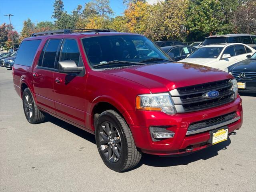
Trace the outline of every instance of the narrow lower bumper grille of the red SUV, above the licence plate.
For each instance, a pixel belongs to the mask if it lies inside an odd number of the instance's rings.
[[[232,112],[232,113],[229,113],[229,114],[225,114],[225,115],[222,115],[222,116],[210,118],[210,119],[207,119],[207,120],[194,122],[194,123],[190,124],[190,126],[188,127],[188,131],[194,131],[194,130],[202,129],[202,128],[205,128],[205,127],[214,126],[214,125],[229,121],[231,119],[234,119],[235,116],[236,116],[236,112]]]

